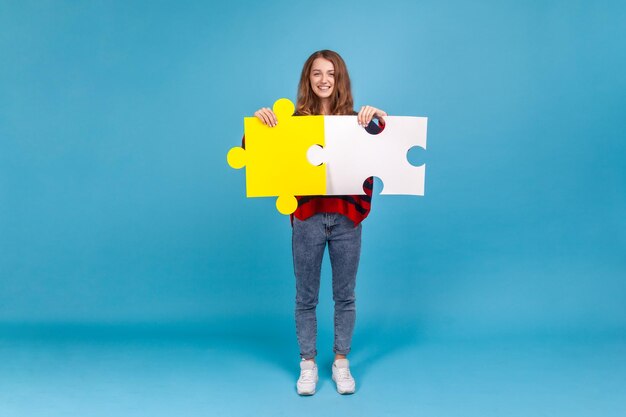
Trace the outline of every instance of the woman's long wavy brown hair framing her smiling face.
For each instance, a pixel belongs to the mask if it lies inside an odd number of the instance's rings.
[[[302,67],[302,74],[300,75],[300,83],[298,84],[298,100],[296,104],[296,114],[299,115],[314,115],[321,114],[322,101],[313,92],[311,88],[311,68],[313,67],[313,61],[317,58],[324,58],[333,63],[335,68],[335,86],[333,88],[333,94],[330,97],[330,114],[354,114],[352,89],[350,87],[350,76],[348,75],[348,68],[343,58],[334,51],[323,49],[321,51],[314,52],[304,63]]]

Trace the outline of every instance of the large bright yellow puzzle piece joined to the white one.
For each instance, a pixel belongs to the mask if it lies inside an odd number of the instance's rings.
[[[311,165],[306,156],[311,146],[324,146],[324,116],[293,116],[295,107],[286,98],[273,110],[274,127],[244,119],[246,149],[232,148],[227,160],[232,168],[246,167],[248,197],[278,196],[278,211],[291,214],[298,208],[296,195],[326,194],[326,167]]]

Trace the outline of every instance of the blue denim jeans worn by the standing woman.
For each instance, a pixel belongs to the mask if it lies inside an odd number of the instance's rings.
[[[337,213],[318,213],[305,221],[293,219],[293,265],[296,275],[296,334],[300,356],[317,355],[316,307],[322,258],[328,244],[333,270],[335,341],[333,351],[350,352],[356,318],[356,272],[361,255],[361,224]]]

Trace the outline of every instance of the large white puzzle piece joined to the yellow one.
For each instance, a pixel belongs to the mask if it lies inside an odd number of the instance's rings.
[[[424,195],[426,165],[407,159],[415,146],[426,149],[426,117],[388,116],[377,135],[368,133],[356,116],[325,116],[325,146],[312,146],[307,158],[326,164],[326,195],[365,194],[363,182],[371,176],[384,184],[381,194]]]

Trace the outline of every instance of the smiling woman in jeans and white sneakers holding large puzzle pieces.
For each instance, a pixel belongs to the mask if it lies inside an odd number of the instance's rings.
[[[377,133],[384,126],[382,110],[364,106],[353,110],[350,77],[339,54],[329,50],[313,53],[302,68],[296,115],[357,115],[357,123]],[[278,120],[269,108],[255,112],[264,124]],[[372,120],[379,120],[381,127]],[[296,275],[296,333],[300,346],[298,394],[313,395],[318,381],[315,363],[317,319],[315,309],[320,288],[322,257],[328,245],[333,271],[335,301],[335,361],[332,375],[340,394],[352,394],[354,378],[346,355],[350,352],[355,322],[356,273],[361,253],[361,222],[370,210],[373,180],[364,185],[366,195],[298,197],[292,215],[293,263]]]

